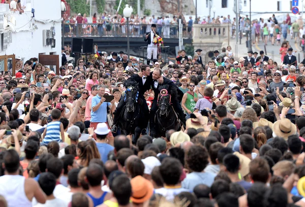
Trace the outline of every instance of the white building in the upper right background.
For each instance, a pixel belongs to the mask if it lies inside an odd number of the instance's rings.
[[[194,3],[196,0],[193,0]],[[235,17],[233,11],[235,0],[197,0],[197,15],[200,17],[207,16],[210,14],[211,17],[215,16],[227,16],[230,15],[231,19]],[[239,10],[241,15],[245,16],[250,12],[250,0],[237,0],[238,5],[241,5]],[[299,2],[299,11],[302,11],[302,0]],[[304,3],[305,5],[305,3]],[[209,9],[211,8],[211,9]],[[291,0],[252,0],[251,1],[251,17],[255,18],[269,18],[273,12],[289,13],[290,16],[294,16],[291,12],[292,1]],[[304,9],[303,9],[304,10]],[[305,11],[305,10],[304,10]],[[276,16],[281,14],[275,13]],[[305,16],[305,15],[304,15]],[[202,18],[201,18],[202,20]]]

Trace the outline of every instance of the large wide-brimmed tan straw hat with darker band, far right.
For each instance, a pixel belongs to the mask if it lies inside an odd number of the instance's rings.
[[[273,124],[273,132],[277,136],[283,137],[287,140],[290,135],[296,133],[296,126],[292,124],[289,119],[285,118]]]

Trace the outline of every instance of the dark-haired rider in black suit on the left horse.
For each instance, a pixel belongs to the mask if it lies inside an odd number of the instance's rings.
[[[135,80],[138,83],[138,88],[139,88],[139,95],[138,95],[138,100],[140,101],[140,105],[141,105],[141,110],[143,111],[144,117],[148,117],[149,116],[149,109],[146,103],[146,100],[143,96],[143,94],[150,89],[150,84],[153,81],[153,78],[151,78],[151,74],[150,73],[150,68],[148,65],[142,65],[141,66],[141,72],[143,74],[143,77],[140,77],[138,74],[133,74],[129,79],[131,80]],[[144,84],[143,84],[144,82]],[[116,107],[115,110],[115,115],[114,115],[114,120],[113,120],[113,126],[111,128],[112,132],[116,132],[117,130],[117,122],[120,119],[120,113],[124,108],[124,99],[121,99]],[[148,118],[147,120],[144,120],[146,123],[145,126],[148,125]]]

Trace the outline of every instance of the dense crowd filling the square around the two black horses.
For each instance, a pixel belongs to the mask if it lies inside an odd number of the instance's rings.
[[[17,57],[0,74],[0,206],[305,206],[305,66],[283,48],[281,63],[227,46],[208,61],[113,51],[73,65],[67,45],[59,74]],[[117,124],[130,80],[149,115],[136,141]],[[165,84],[183,126],[157,137]]]

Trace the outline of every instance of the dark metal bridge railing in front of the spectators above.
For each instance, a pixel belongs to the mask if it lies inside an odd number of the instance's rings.
[[[119,23],[64,23],[62,29],[64,29],[64,37],[127,37],[127,25]],[[150,31],[150,24],[129,24],[129,37],[144,38],[145,34]],[[156,32],[162,38],[178,38],[178,31],[178,25],[157,25],[156,28]],[[182,38],[192,38],[192,28],[182,27]]]

